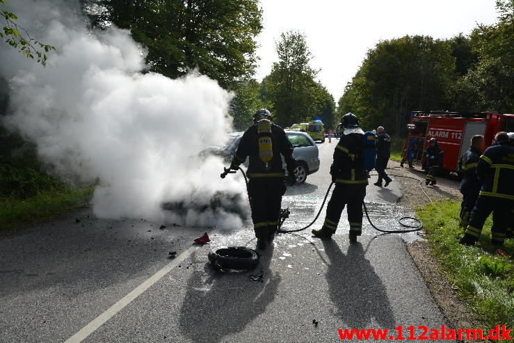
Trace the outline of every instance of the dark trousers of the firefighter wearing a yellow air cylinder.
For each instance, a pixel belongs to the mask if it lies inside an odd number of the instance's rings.
[[[283,177],[255,177],[248,182],[255,237],[266,238],[278,229],[282,196],[286,192]]]

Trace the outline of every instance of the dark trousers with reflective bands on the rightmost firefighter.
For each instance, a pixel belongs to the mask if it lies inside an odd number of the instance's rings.
[[[491,238],[497,244],[503,244],[506,237],[506,229],[509,226],[512,200],[495,198],[491,196],[479,196],[469,217],[469,224],[465,234],[474,237],[478,241],[482,233],[483,223],[492,212]]]

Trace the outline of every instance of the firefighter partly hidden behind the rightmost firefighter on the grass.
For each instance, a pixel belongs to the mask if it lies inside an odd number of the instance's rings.
[[[483,136],[475,135],[471,138],[469,150],[460,157],[460,170],[463,170],[463,180],[460,182],[460,193],[463,195],[463,202],[460,204],[460,228],[466,230],[469,214],[475,206],[476,199],[479,198],[482,182],[476,175],[476,165],[480,161],[482,154]]]

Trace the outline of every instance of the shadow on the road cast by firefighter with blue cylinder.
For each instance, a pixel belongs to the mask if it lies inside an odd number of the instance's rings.
[[[335,241],[323,241],[323,246],[330,260],[326,279],[335,315],[349,328],[371,328],[371,319],[382,328],[394,328],[387,292],[362,244],[350,244],[346,255]]]

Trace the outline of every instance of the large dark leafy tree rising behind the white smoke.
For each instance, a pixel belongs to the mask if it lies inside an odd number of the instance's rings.
[[[154,72],[175,78],[198,67],[223,88],[236,88],[255,71],[258,0],[81,1],[93,26],[130,29]]]

